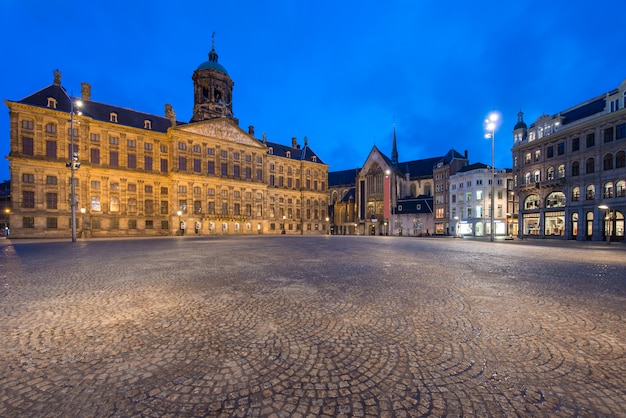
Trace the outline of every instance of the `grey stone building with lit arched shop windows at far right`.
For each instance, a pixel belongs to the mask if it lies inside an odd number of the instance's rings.
[[[521,236],[624,240],[626,80],[513,136]]]

